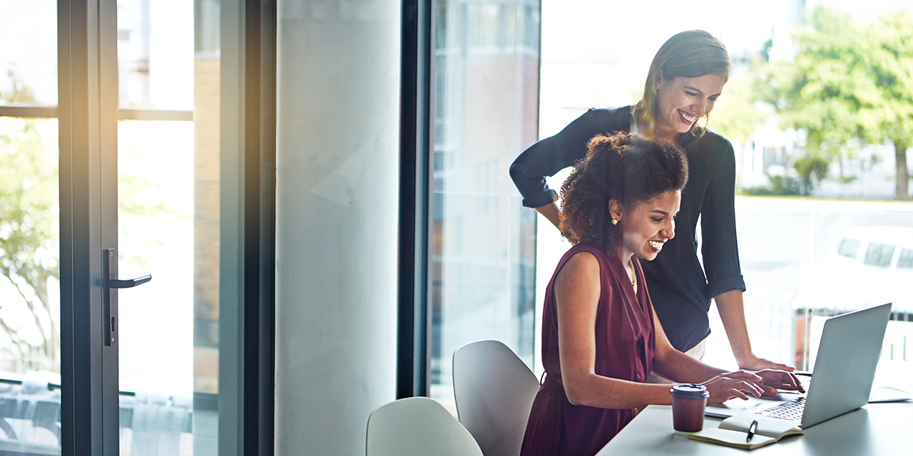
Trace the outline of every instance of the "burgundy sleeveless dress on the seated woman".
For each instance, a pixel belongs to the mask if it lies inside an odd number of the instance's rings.
[[[643,382],[656,349],[653,312],[644,273],[635,261],[637,294],[618,255],[574,245],[561,258],[545,292],[542,312],[542,364],[545,382],[532,402],[520,456],[589,456],[596,454],[624,425],[634,409],[600,409],[572,405],[561,384],[555,276],[573,254],[589,252],[599,261],[602,293],[596,310],[595,372],[604,377]]]

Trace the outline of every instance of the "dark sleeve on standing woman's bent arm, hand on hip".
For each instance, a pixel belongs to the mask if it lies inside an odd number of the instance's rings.
[[[557,194],[549,188],[546,176],[572,166],[586,157],[586,144],[593,136],[605,131],[600,111],[589,109],[555,136],[540,140],[519,154],[510,164],[510,179],[523,195],[526,207],[541,207],[554,201]],[[601,128],[600,125],[603,127]]]

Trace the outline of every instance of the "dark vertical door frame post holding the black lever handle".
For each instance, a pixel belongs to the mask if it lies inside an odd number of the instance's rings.
[[[118,450],[118,342],[104,345],[101,321],[102,249],[117,247],[116,20],[114,1],[58,0],[63,454]]]

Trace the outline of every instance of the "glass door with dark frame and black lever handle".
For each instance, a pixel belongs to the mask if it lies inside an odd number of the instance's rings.
[[[58,452],[272,452],[274,21],[269,2],[58,3]]]

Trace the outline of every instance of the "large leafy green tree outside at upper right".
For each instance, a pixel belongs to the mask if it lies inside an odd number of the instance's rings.
[[[757,86],[759,97],[776,107],[785,127],[806,130],[807,150],[826,161],[854,155],[860,140],[892,140],[896,198],[907,200],[906,150],[913,145],[910,15],[856,24],[819,7],[793,37],[795,58],[768,68]]]

